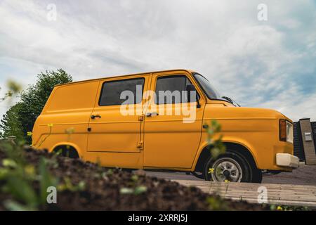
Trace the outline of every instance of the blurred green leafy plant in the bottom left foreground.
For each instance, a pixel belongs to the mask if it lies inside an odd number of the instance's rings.
[[[58,186],[58,179],[48,170],[50,160],[41,158],[39,166],[29,164],[19,143],[0,142],[0,151],[6,158],[0,162],[0,182],[2,193],[11,196],[3,204],[7,210],[38,210],[47,204],[47,188]],[[34,183],[39,184],[35,188]]]

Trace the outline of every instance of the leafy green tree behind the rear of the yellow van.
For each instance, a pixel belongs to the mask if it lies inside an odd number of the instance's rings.
[[[44,108],[54,86],[69,82],[72,82],[72,76],[62,69],[57,71],[46,70],[46,72],[37,75],[37,82],[29,85],[27,89],[20,93],[20,101],[13,105],[1,120],[2,136],[13,135],[30,143],[31,140],[27,137],[27,132],[32,131],[34,122],[41,114],[41,110]]]

